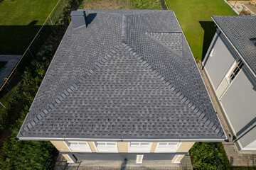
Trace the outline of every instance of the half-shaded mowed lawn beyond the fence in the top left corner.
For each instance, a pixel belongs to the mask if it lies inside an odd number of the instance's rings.
[[[0,0],[0,55],[22,55],[58,0]]]

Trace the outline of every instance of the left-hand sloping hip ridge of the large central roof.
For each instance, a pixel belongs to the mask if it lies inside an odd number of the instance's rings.
[[[121,47],[122,45],[114,46],[113,50],[111,50],[107,55],[105,55],[105,57],[103,57],[102,60],[100,60],[100,62],[96,62],[96,64],[92,67],[92,69],[85,72],[84,76],[81,76],[75,83],[69,86],[68,89],[65,89],[58,97],[53,99],[54,101],[48,104],[48,106],[43,111],[38,113],[38,115],[36,115],[35,118],[33,118],[33,120],[23,125],[23,130],[20,130],[21,135],[25,135],[26,132],[28,132],[28,130],[33,128],[33,126],[35,126],[36,123],[38,123],[41,119],[43,119],[43,117],[45,117],[48,113],[50,113],[50,111],[52,111],[55,107],[57,107],[58,104],[60,104],[61,101],[63,101],[66,96],[68,96],[69,94],[72,94],[73,91],[78,89],[79,85],[85,82],[86,77],[91,76],[97,69],[102,67],[102,65],[105,64],[108,60],[110,60],[110,57],[116,54]]]

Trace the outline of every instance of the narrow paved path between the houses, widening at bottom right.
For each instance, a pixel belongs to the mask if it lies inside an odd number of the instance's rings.
[[[220,106],[220,103],[215,96],[212,87],[206,77],[205,72],[201,70],[201,74],[203,77],[203,81],[206,83],[206,88],[209,91],[210,98],[213,101],[213,105],[218,113],[218,117],[220,118],[220,123],[223,125],[223,129],[225,134],[228,135],[229,142],[223,142],[223,147],[228,156],[228,160],[232,166],[256,166],[256,154],[242,154],[238,152],[238,147],[232,140],[233,132],[230,130],[231,128],[228,126],[228,121],[225,118],[223,110]]]

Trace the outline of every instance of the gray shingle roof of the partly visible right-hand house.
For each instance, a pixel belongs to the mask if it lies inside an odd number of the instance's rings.
[[[256,16],[211,16],[256,75]]]

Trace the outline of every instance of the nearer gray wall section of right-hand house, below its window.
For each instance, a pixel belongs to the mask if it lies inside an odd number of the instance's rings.
[[[235,80],[220,98],[235,134],[252,124],[256,112],[256,85],[243,67]],[[256,134],[255,134],[256,137]]]

